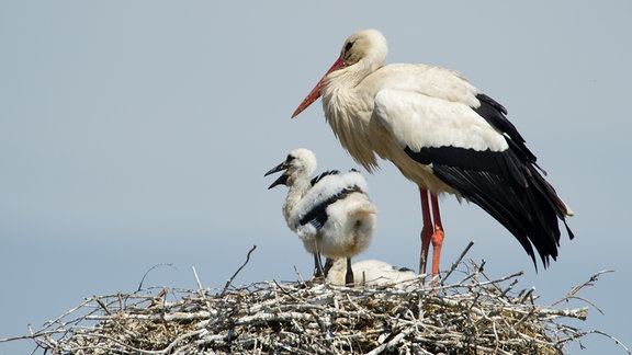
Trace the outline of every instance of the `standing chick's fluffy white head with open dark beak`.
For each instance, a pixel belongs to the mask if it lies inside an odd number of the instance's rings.
[[[283,171],[283,174],[279,176],[268,188],[272,188],[276,185],[293,186],[296,181],[304,180],[309,182],[312,176],[316,172],[316,156],[312,150],[305,148],[298,148],[292,150],[285,160],[279,165],[270,169],[264,176],[272,173]]]

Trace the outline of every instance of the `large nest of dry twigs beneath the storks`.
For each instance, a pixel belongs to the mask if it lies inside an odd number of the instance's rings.
[[[514,289],[521,273],[494,279],[482,264],[460,267],[460,280],[435,286],[421,277],[380,288],[230,279],[215,291],[94,296],[22,339],[53,354],[560,354],[588,333],[560,322],[585,320],[588,307],[555,306],[601,273],[539,306],[533,289]]]

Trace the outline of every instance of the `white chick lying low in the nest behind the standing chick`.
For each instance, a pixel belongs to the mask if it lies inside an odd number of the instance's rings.
[[[347,263],[345,259],[328,259],[325,266],[327,282],[332,285],[345,285]],[[362,260],[351,265],[353,280],[357,286],[394,286],[405,287],[410,284],[402,282],[417,277],[417,274],[408,268],[395,267],[381,260]]]

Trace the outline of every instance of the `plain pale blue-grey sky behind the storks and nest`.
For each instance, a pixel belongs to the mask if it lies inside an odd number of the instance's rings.
[[[351,33],[374,27],[387,62],[459,70],[509,110],[548,180],[575,210],[558,261],[535,273],[477,206],[442,199],[442,268],[470,240],[490,276],[524,271],[539,302],[594,273],[584,330],[632,346],[632,2],[0,2],[0,339],[84,297],[145,286],[221,288],[295,280],[311,256],[263,173],[298,147],[319,170],[358,167],[320,103],[290,115]],[[419,197],[388,162],[366,175],[380,214],[370,249],[416,268]],[[563,307],[583,307],[567,304]],[[572,353],[623,354],[600,335]],[[0,343],[23,354],[31,341]]]

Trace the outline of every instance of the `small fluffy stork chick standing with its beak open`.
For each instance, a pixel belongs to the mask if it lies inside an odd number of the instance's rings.
[[[312,178],[316,157],[311,150],[292,150],[287,158],[266,175],[283,171],[270,187],[290,187],[283,204],[287,227],[295,231],[305,249],[314,254],[314,273],[321,270],[319,254],[347,259],[347,285],[353,284],[351,257],[364,251],[375,227],[375,206],[368,195],[366,181],[356,170],[340,174],[327,171]]]

